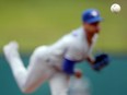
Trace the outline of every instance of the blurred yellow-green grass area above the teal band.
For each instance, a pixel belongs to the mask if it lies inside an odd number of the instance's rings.
[[[122,5],[119,14],[109,11]],[[53,44],[81,25],[81,13],[89,8],[101,11],[104,21],[96,49],[127,52],[126,0],[0,0],[0,50],[10,40],[23,52]]]

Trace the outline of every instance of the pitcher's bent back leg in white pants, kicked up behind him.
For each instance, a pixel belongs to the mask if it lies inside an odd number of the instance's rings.
[[[24,93],[31,93],[38,87],[50,75],[50,69],[46,64],[46,48],[37,48],[31,57],[28,68],[26,69],[18,51],[18,44],[10,43],[3,48],[4,56],[11,67],[14,79]]]

